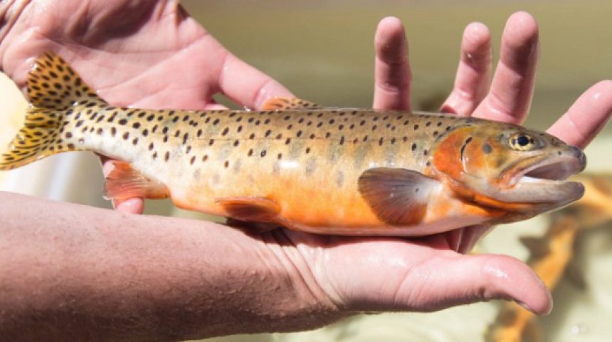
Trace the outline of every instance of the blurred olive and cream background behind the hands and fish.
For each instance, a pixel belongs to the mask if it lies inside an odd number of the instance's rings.
[[[539,68],[527,126],[547,128],[586,88],[612,78],[612,1],[181,3],[237,56],[301,98],[322,105],[371,107],[374,30],[380,19],[390,15],[399,17],[408,33],[415,109],[436,110],[448,95],[460,38],[467,24],[481,21],[489,26],[497,58],[505,21],[519,10],[533,14],[540,26]],[[2,75],[0,146],[13,138],[25,107],[19,90]],[[608,126],[586,150],[589,172],[612,172],[608,157],[611,146],[612,128]],[[98,163],[89,153],[49,157],[0,173],[0,190],[110,208],[102,199]],[[201,218],[167,201],[147,202],[147,213]],[[530,254],[520,239],[542,237],[553,225],[554,217],[548,215],[497,227],[475,252],[510,254],[527,260]],[[545,244],[546,240],[540,239],[529,245],[550,252],[552,249]],[[228,336],[207,341],[519,341],[508,337],[513,336],[512,331],[514,336],[522,334],[523,341],[606,341],[607,336],[612,336],[612,225],[596,224],[592,229],[581,230],[567,247],[571,254],[569,264],[556,266],[561,267],[563,276],[554,289],[554,311],[524,325],[517,323],[516,314],[498,317],[504,304],[493,302],[432,314],[356,316],[303,333]],[[504,325],[511,332],[500,335],[505,338],[492,338],[492,329]]]

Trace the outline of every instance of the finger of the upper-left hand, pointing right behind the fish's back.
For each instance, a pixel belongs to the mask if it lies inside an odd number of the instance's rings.
[[[230,100],[248,108],[259,109],[273,97],[295,97],[270,76],[228,53],[219,76],[221,92]]]

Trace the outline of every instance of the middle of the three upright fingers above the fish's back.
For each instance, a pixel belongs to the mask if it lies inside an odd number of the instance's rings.
[[[442,105],[442,112],[471,115],[487,95],[491,78],[491,33],[481,23],[472,23],[463,31],[461,56],[455,86]]]

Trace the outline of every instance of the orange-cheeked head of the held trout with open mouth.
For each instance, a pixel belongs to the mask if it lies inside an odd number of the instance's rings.
[[[566,180],[584,170],[584,152],[517,125],[477,120],[440,137],[431,157],[458,197],[485,207],[537,214],[584,194]]]

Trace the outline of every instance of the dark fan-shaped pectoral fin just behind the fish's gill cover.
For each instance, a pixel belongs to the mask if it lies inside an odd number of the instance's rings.
[[[394,226],[421,222],[436,185],[438,181],[419,172],[392,167],[366,170],[358,180],[359,192],[376,217]]]

